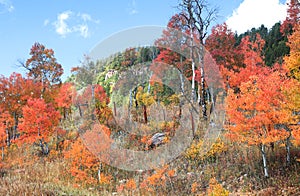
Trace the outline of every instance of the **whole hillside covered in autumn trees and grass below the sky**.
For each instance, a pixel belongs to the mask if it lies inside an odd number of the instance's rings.
[[[63,82],[36,42],[26,76],[0,77],[1,195],[300,194],[299,3],[206,36],[208,7],[183,2],[153,46],[85,56]]]

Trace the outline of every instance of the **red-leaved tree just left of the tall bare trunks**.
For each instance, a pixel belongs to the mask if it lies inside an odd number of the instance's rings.
[[[188,44],[184,40],[189,31],[185,25],[186,19],[182,15],[175,14],[169,20],[162,37],[155,41],[160,52],[150,67],[153,71],[150,83],[153,86],[158,86],[158,89],[162,88],[161,78],[168,69],[166,65],[174,66],[183,76],[195,81],[195,70],[191,69],[191,59],[182,55],[183,53],[189,54]],[[154,91],[156,93],[157,89]]]

